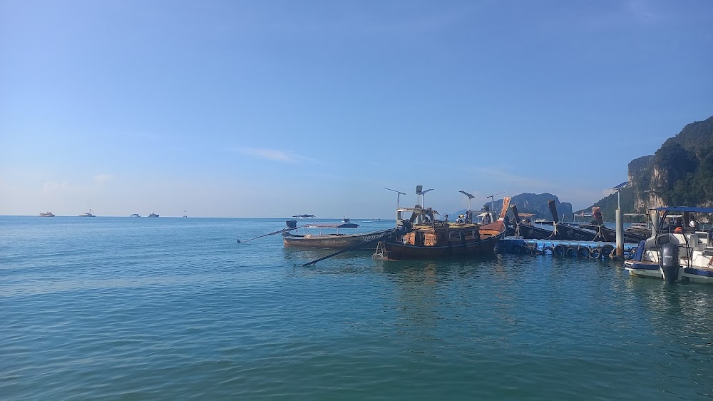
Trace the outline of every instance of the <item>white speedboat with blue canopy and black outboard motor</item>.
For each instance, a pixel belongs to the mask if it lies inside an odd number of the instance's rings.
[[[713,284],[713,243],[709,233],[690,227],[692,213],[713,215],[713,208],[674,206],[657,208],[662,212],[655,233],[642,240],[634,258],[625,261],[632,276],[659,278],[667,283],[697,282]],[[668,225],[672,213],[682,213],[682,225]],[[654,215],[657,218],[658,214]],[[695,222],[695,220],[694,220]]]

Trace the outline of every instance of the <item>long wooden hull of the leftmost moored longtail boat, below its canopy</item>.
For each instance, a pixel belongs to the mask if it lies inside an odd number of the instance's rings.
[[[321,248],[321,249],[347,249],[354,248],[373,250],[374,240],[388,238],[393,229],[373,231],[363,234],[320,234],[320,235],[299,235],[292,233],[282,233],[282,241],[286,247],[294,248]],[[366,244],[363,247],[359,246]]]

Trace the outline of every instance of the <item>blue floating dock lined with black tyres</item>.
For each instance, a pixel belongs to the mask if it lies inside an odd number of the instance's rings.
[[[625,243],[624,258],[628,259],[634,255],[637,246],[638,244],[635,243]],[[496,251],[499,253],[553,255],[588,259],[609,258],[616,248],[616,243],[599,241],[525,240],[513,237],[503,238],[496,245]]]

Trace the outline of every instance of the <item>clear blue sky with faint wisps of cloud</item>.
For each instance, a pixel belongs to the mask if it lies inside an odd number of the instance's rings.
[[[588,207],[713,115],[713,1],[0,0],[0,215]]]

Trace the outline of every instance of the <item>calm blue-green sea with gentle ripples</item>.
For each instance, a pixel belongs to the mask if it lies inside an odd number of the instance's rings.
[[[713,397],[713,285],[551,255],[305,268],[330,251],[247,241],[283,227],[0,217],[0,399]]]

